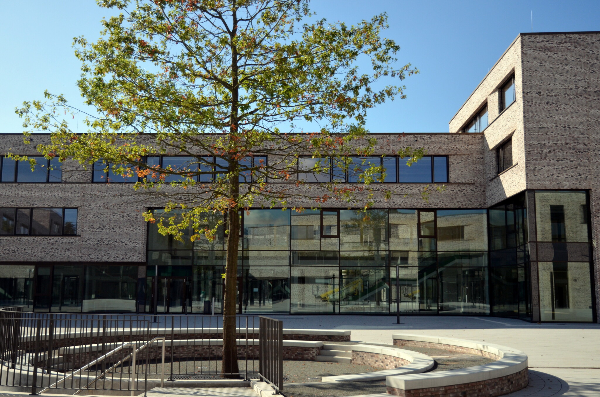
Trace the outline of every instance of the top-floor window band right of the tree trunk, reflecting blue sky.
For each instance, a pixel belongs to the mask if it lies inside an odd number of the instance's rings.
[[[364,181],[364,176],[361,177],[361,174],[368,167],[382,166],[385,169],[383,182],[386,183],[448,182],[447,156],[424,156],[410,167],[406,165],[406,160],[396,156],[353,157],[347,172],[344,172],[342,167],[335,164],[335,160],[332,161],[331,158],[301,157],[298,160],[298,180],[359,183]],[[380,176],[374,175],[373,182],[380,182],[379,178]]]

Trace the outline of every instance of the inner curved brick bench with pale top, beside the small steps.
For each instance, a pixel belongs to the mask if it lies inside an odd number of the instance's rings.
[[[367,344],[352,345],[352,363],[387,368],[362,374],[323,377],[323,382],[381,380],[391,375],[419,374],[433,368],[434,360],[416,351]]]

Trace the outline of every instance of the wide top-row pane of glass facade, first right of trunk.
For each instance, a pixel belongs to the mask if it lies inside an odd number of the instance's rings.
[[[244,212],[244,249],[289,249],[290,210]]]

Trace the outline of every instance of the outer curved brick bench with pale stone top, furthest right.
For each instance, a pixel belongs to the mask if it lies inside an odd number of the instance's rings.
[[[495,397],[521,390],[529,382],[527,354],[514,348],[424,335],[394,334],[392,338],[394,345],[399,347],[443,348],[479,354],[496,361],[452,371],[389,376],[386,378],[388,394],[401,397]]]

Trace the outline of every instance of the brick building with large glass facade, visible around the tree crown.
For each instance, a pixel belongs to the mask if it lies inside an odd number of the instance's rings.
[[[600,32],[520,34],[449,133],[373,134],[396,194],[368,221],[335,207],[244,214],[239,312],[394,314],[398,304],[403,315],[597,321],[599,56]],[[35,155],[48,139],[4,134],[0,155]],[[390,155],[406,146],[428,156],[408,168]],[[1,305],[220,312],[222,238],[161,236],[140,212],[163,203],[60,165],[1,160]],[[427,184],[446,191],[425,202]]]

